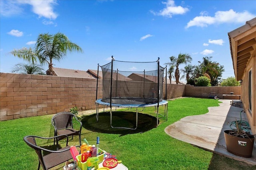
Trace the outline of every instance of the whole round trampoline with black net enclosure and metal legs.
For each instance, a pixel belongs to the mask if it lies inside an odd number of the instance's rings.
[[[155,107],[156,126],[158,126],[158,115],[166,117],[167,120],[168,102],[163,100],[163,75],[164,70],[167,71],[167,69],[159,65],[159,58],[156,62],[125,62],[116,61],[112,56],[110,63],[100,67],[102,68],[102,98],[97,99],[98,64],[95,102],[97,122],[100,106],[110,107],[110,126],[112,128],[136,129],[138,127],[138,108]],[[159,113],[159,106],[164,106],[164,114]],[[136,108],[136,126],[134,128],[114,127],[112,125],[112,107]]]

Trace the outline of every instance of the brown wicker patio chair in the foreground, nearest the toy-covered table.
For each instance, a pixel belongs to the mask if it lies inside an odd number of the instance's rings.
[[[70,153],[70,146],[68,146],[68,136],[67,135],[61,135],[63,138],[67,138],[66,147],[60,149],[60,150],[48,150],[45,148],[42,148],[38,145],[36,145],[36,139],[53,139],[56,137],[38,137],[38,136],[26,136],[23,138],[23,140],[26,142],[28,146],[33,148],[37,155],[38,155],[38,170],[40,169],[40,164],[42,165],[44,170],[48,170],[49,168],[52,168],[54,166],[57,166],[59,164],[62,164],[70,159],[72,159],[72,155]],[[60,136],[58,136],[60,137]],[[76,146],[79,147],[79,146]],[[43,155],[43,151],[50,152],[49,154]]]

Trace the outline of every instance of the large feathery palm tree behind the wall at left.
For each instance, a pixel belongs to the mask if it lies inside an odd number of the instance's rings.
[[[37,60],[40,64],[48,64],[47,75],[54,75],[53,60],[60,61],[68,51],[83,52],[82,48],[72,43],[63,33],[50,35],[49,33],[39,34],[34,49],[18,49],[10,53],[31,63]]]

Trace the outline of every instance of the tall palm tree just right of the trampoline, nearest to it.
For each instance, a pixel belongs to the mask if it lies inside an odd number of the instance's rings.
[[[171,56],[169,57],[170,59],[170,63],[165,63],[165,64],[168,64],[170,66],[174,66],[176,67],[175,69],[175,80],[176,80],[176,84],[178,84],[180,82],[180,70],[179,70],[179,65],[180,64],[187,64],[187,63],[191,63],[192,61],[192,58],[190,57],[189,54],[182,54],[180,53],[178,55],[178,57],[174,57],[174,56]]]

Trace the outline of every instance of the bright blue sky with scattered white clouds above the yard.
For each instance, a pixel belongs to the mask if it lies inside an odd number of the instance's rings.
[[[0,0],[0,72],[25,63],[9,54],[34,47],[40,33],[64,33],[84,53],[54,67],[97,69],[119,61],[157,61],[188,53],[192,64],[212,57],[234,76],[228,32],[256,17],[255,0]],[[48,66],[44,66],[45,70]],[[183,68],[183,66],[181,66]]]

